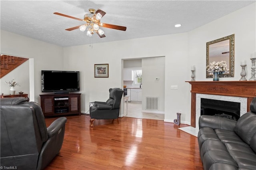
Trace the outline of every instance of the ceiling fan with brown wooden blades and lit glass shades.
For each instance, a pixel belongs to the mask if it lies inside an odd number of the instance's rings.
[[[80,26],[75,26],[75,27],[72,27],[72,28],[68,28],[66,30],[67,31],[72,31],[72,30],[76,30],[78,28],[80,28],[80,31],[82,31],[82,32],[87,30],[87,36],[90,36],[90,37],[94,33],[98,34],[98,36],[100,38],[106,37],[104,35],[104,31],[101,30],[99,27],[105,27],[105,28],[111,28],[111,29],[115,29],[115,30],[126,31],[126,27],[124,27],[124,26],[116,26],[116,25],[106,24],[106,23],[100,22],[100,19],[106,14],[106,12],[104,12],[100,9],[95,11],[92,8],[89,9],[89,12],[90,12],[90,14],[85,14],[84,15],[83,20],[80,19],[80,18],[75,18],[75,17],[72,17],[72,16],[61,14],[61,13],[58,13],[58,12],[54,12],[54,14],[86,22],[86,24],[83,24],[83,25],[80,25]]]

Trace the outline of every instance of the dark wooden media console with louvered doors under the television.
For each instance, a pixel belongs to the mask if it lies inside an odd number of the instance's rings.
[[[40,97],[45,117],[81,115],[81,93],[50,93]]]

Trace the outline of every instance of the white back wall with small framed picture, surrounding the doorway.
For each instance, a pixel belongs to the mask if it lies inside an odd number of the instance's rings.
[[[165,107],[166,117],[175,119],[176,112],[184,108],[183,100],[189,95],[187,65],[188,34],[174,34],[150,38],[140,38],[119,42],[108,42],[64,48],[64,68],[82,72],[82,111],[88,111],[89,102],[106,101],[108,89],[122,88],[122,59],[165,56]],[[184,45],[185,44],[185,45]],[[133,49],[133,50],[130,50]],[[79,61],[79,62],[77,62]],[[109,78],[95,78],[94,64],[109,64]],[[170,85],[180,89],[170,90]],[[184,90],[184,88],[186,90]],[[180,93],[179,93],[180,92]],[[173,102],[170,102],[173,101]],[[84,105],[85,104],[85,105]],[[186,109],[184,109],[186,110]],[[188,107],[187,107],[188,110]]]

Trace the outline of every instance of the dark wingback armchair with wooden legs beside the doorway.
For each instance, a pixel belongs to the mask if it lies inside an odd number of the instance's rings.
[[[95,119],[117,119],[119,116],[120,103],[123,96],[120,88],[109,89],[109,99],[106,102],[95,101],[90,107],[90,126],[93,127]]]

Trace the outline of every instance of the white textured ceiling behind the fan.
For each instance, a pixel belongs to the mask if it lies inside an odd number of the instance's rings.
[[[188,32],[254,3],[255,0],[1,0],[1,30],[62,47],[111,42]],[[106,37],[86,36],[79,29],[66,28],[82,21],[53,14],[59,12],[83,19],[89,8],[101,9],[101,22],[126,26],[127,30],[102,28]],[[175,24],[182,24],[175,28]]]

